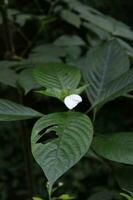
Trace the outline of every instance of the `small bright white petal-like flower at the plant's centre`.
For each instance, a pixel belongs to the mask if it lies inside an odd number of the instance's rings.
[[[82,98],[78,94],[71,94],[69,96],[66,96],[64,99],[64,104],[70,110],[75,108],[80,102],[82,102]]]

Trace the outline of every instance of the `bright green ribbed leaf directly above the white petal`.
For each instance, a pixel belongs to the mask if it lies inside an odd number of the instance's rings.
[[[33,70],[36,81],[43,87],[75,89],[80,82],[80,71],[61,63],[40,65]]]

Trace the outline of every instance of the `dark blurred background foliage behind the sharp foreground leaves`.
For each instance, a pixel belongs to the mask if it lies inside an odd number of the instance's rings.
[[[44,113],[66,110],[58,100],[33,92],[33,66],[47,62],[77,65],[90,48],[115,38],[133,58],[132,0],[9,0],[0,2],[0,96]],[[95,10],[96,9],[96,10]],[[100,13],[99,13],[100,12]],[[108,17],[111,16],[112,18]],[[121,23],[119,21],[125,23]],[[128,26],[130,26],[130,28]],[[78,110],[85,112],[89,103]],[[133,100],[121,97],[98,113],[95,131],[133,131]],[[0,199],[47,198],[45,177],[30,153],[34,120],[0,123]],[[89,152],[57,184],[54,195],[77,200],[119,200],[133,192],[133,167],[101,160]]]

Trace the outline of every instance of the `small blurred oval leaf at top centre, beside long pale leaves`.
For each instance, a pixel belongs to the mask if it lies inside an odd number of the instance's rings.
[[[68,23],[72,24],[73,26],[76,26],[77,28],[79,28],[81,25],[79,15],[75,14],[74,12],[71,12],[69,10],[63,10],[61,12],[61,17]]]

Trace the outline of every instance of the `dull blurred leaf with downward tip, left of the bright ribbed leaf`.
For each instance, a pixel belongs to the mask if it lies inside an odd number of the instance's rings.
[[[18,83],[24,89],[25,94],[32,89],[40,87],[40,85],[33,78],[31,69],[25,69],[19,74]]]

